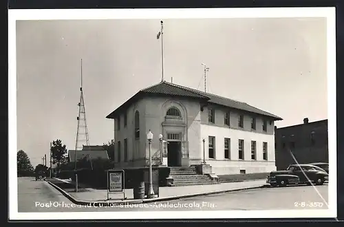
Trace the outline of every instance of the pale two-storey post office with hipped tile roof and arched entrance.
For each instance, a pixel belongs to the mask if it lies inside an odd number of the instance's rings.
[[[281,118],[244,102],[164,81],[142,89],[107,118],[114,119],[118,168],[149,165],[150,130],[157,166],[205,160],[217,175],[276,169],[274,122]]]

